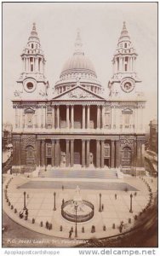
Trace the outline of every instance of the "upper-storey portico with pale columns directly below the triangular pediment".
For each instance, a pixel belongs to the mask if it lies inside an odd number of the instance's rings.
[[[104,102],[86,103],[68,102],[64,105],[63,102],[60,102],[52,106],[50,115],[48,111],[48,128],[66,128],[67,130],[102,129],[104,127]]]

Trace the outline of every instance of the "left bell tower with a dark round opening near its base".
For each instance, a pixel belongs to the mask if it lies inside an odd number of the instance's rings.
[[[33,23],[31,35],[21,56],[22,73],[16,84],[14,96],[19,98],[41,99],[47,96],[49,83],[44,75],[45,58]]]

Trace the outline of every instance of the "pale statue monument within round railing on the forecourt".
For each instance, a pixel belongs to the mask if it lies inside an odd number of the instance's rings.
[[[63,202],[61,206],[61,215],[63,218],[71,222],[76,222],[76,208],[77,206],[77,223],[88,221],[94,216],[94,205],[82,200],[81,191],[79,187],[76,188],[76,193],[73,200]]]

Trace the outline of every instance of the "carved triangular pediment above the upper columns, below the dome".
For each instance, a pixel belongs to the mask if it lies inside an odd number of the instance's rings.
[[[54,100],[105,100],[102,96],[95,94],[94,92],[77,85],[70,90],[62,92],[60,95],[55,96]]]

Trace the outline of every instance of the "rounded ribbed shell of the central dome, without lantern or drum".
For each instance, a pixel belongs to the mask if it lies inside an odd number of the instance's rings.
[[[83,54],[74,54],[66,61],[60,77],[66,73],[90,73],[96,77],[94,65],[89,58]]]

